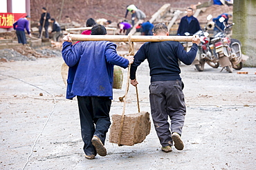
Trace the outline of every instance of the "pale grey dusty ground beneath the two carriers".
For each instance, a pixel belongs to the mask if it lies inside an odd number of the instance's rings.
[[[120,52],[121,53],[121,52]],[[153,124],[140,144],[109,142],[107,156],[84,158],[77,100],[66,100],[61,56],[0,63],[0,169],[255,169],[256,68],[232,74],[181,64],[187,115],[183,151],[161,151]],[[122,114],[113,90],[111,115]],[[138,67],[140,110],[149,111],[147,61]],[[126,114],[136,113],[129,88]]]

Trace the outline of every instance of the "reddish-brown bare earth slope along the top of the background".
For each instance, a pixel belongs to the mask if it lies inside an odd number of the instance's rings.
[[[208,0],[201,0],[201,3]],[[62,2],[63,6],[62,6]],[[36,0],[30,1],[31,6],[31,21],[38,22],[42,14],[42,7],[46,7],[50,12],[51,17],[57,19],[59,23],[77,22],[85,24],[89,18],[93,19],[108,19],[118,22],[118,19],[124,19],[127,6],[135,4],[140,10],[143,10],[150,19],[156,9],[161,8],[165,3],[170,3],[172,8],[187,8],[192,4],[197,4],[198,0],[41,0],[40,3]],[[127,19],[131,19],[131,14],[128,14]]]

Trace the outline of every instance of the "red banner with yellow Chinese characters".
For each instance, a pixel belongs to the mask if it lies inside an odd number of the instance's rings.
[[[13,23],[24,17],[25,13],[0,13],[0,28],[12,28]]]

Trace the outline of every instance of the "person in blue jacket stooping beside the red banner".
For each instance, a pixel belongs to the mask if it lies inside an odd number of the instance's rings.
[[[23,45],[27,43],[25,29],[28,32],[28,35],[31,37],[30,31],[29,31],[29,21],[30,16],[26,16],[25,18],[19,19],[17,22],[13,24],[13,29],[16,30],[18,42],[22,43]]]

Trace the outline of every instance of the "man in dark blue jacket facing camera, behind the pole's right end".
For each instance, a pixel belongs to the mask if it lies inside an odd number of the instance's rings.
[[[177,35],[184,36],[185,32],[190,33],[190,35],[201,30],[199,25],[199,21],[193,16],[194,11],[192,8],[187,9],[187,15],[181,18],[181,22],[179,25],[179,29],[177,31]]]

